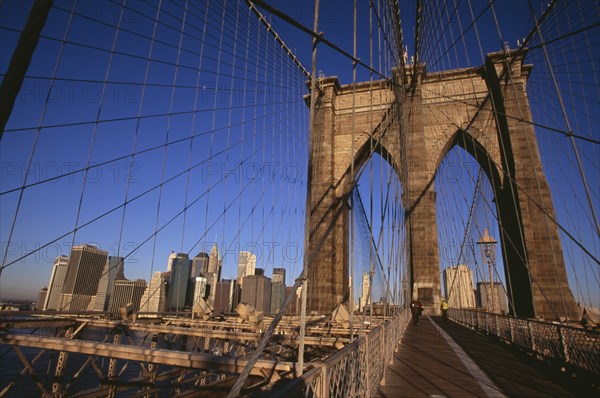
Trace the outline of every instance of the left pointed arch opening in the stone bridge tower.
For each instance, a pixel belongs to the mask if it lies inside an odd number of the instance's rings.
[[[350,197],[349,274],[354,309],[365,317],[404,305],[406,239],[399,168],[391,151],[367,140],[355,157]]]

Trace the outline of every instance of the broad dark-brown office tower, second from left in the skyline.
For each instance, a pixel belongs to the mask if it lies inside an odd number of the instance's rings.
[[[92,245],[73,246],[61,293],[60,309],[85,311],[98,291],[108,252]]]

